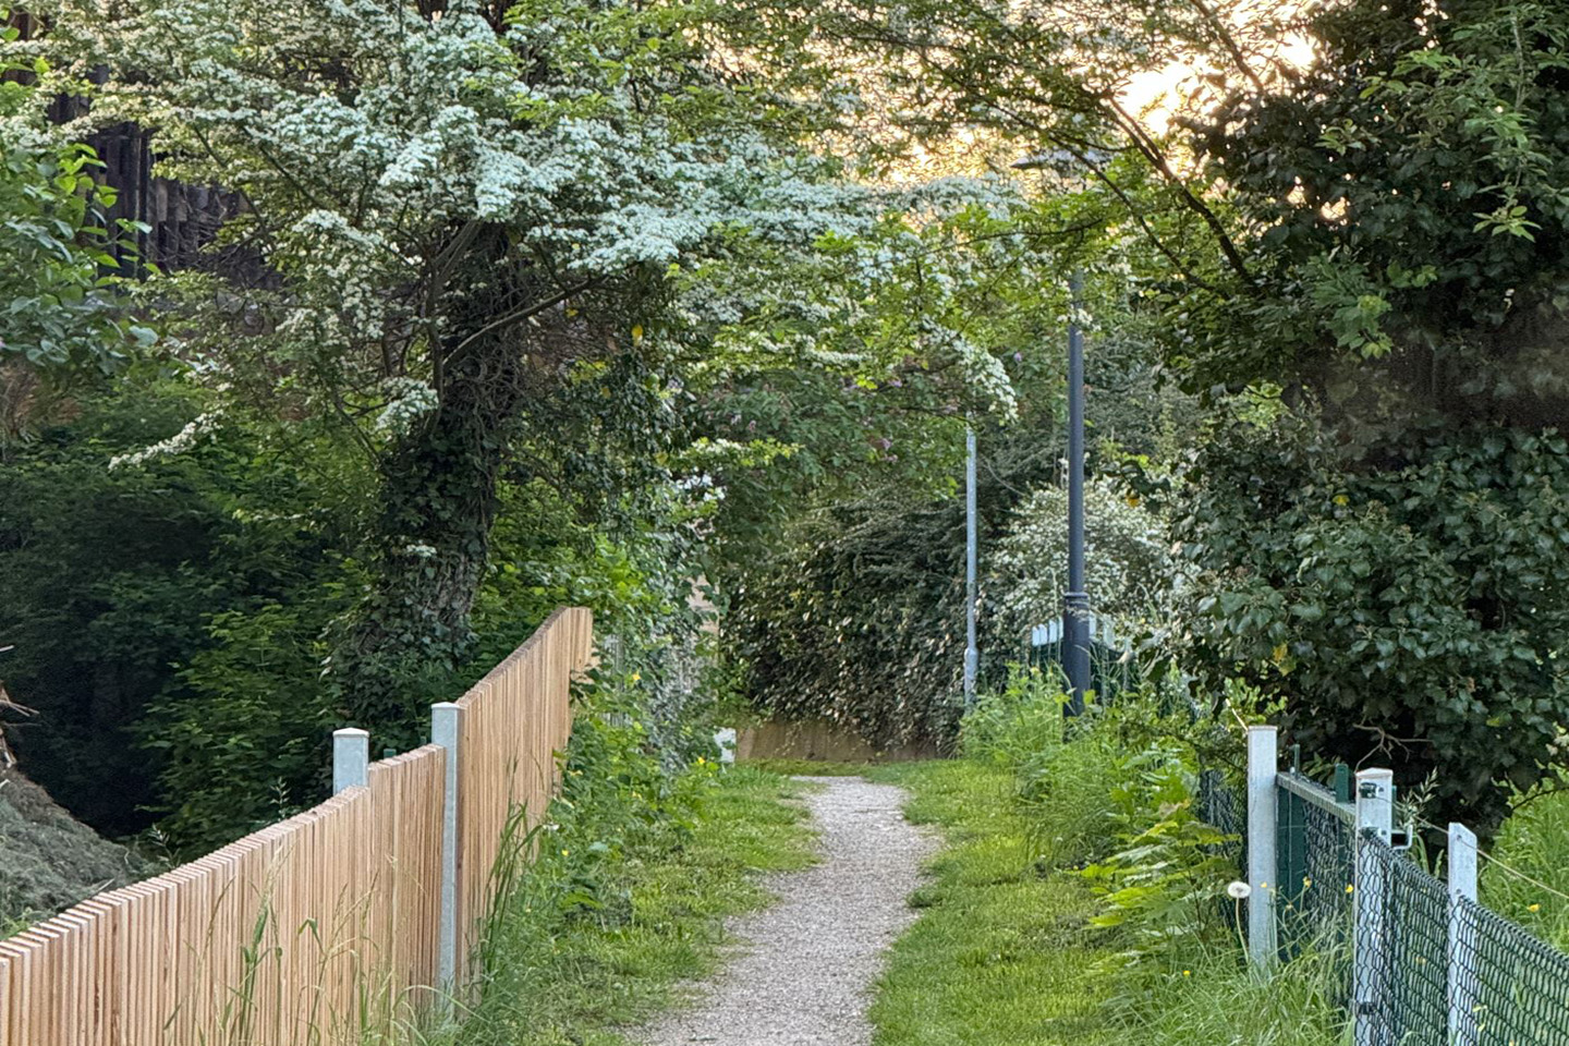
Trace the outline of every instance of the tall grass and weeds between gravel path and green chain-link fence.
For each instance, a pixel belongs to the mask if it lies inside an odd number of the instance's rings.
[[[1214,726],[1158,695],[1062,720],[1015,671],[963,723],[963,759],[879,770],[948,847],[872,1008],[879,1046],[1334,1046],[1343,957],[1252,969],[1216,897],[1238,870],[1196,815]]]

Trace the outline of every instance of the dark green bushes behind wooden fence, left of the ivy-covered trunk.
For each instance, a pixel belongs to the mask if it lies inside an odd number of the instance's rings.
[[[210,803],[193,834],[232,834],[325,765],[312,651],[353,579],[353,474],[329,442],[297,470],[240,425],[202,428],[204,405],[138,372],[0,459],[5,671],[39,712],[11,735],[104,831]]]

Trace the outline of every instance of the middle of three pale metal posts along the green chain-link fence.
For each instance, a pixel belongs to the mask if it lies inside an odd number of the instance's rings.
[[[1389,993],[1389,957],[1384,939],[1387,870],[1365,844],[1389,845],[1395,830],[1395,772],[1357,770],[1356,952],[1351,963],[1351,999],[1356,1046],[1392,1046],[1390,1029],[1374,1019]]]

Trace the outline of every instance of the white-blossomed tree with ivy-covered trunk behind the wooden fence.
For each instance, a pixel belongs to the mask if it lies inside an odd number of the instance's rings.
[[[375,580],[329,659],[362,723],[413,723],[408,679],[464,657],[505,472],[635,497],[683,467],[695,390],[766,359],[913,351],[1006,401],[952,315],[890,334],[868,306],[918,234],[795,149],[813,83],[759,74],[789,33],[584,0],[46,6],[55,75],[115,71],[88,119],[155,127],[162,173],[242,202],[223,240],[264,274],[169,281],[176,351],[234,400],[339,419],[380,474]]]

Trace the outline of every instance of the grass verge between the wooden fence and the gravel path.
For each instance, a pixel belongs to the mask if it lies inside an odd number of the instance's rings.
[[[460,1046],[626,1043],[621,1030],[715,969],[726,916],[769,902],[758,873],[814,861],[806,815],[791,803],[802,784],[736,767],[678,789],[684,817],[587,863],[574,847],[604,844],[570,826],[548,836],[496,919],[494,969]]]

